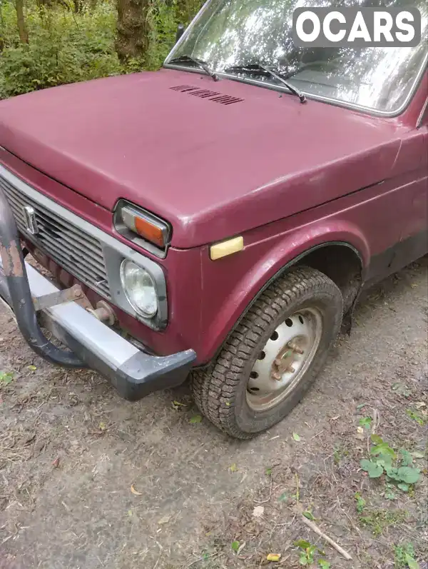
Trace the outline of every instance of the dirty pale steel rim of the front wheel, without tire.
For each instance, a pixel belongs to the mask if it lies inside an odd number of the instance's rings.
[[[312,363],[322,336],[322,315],[302,308],[280,323],[267,340],[250,372],[247,403],[267,411],[290,396]]]

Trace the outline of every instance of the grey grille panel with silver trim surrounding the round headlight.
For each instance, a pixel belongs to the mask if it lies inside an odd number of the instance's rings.
[[[6,187],[7,186],[7,187]],[[4,191],[21,233],[66,271],[86,283],[122,311],[154,330],[163,330],[168,323],[168,301],[163,268],[127,246],[106,231],[58,205],[29,186],[0,163],[0,191]],[[32,236],[25,231],[21,204],[36,211],[36,225],[41,233]],[[113,216],[112,216],[113,222]],[[46,226],[48,231],[46,231]],[[44,236],[42,242],[41,236]],[[62,241],[60,241],[62,238]],[[61,243],[61,246],[58,246]],[[120,268],[124,258],[131,259],[150,273],[158,296],[158,312],[154,318],[138,315],[123,292]]]

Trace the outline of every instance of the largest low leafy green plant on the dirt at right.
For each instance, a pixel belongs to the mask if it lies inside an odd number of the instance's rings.
[[[400,490],[408,492],[410,485],[417,483],[420,477],[419,468],[412,466],[412,455],[405,449],[400,449],[397,455],[379,435],[372,435],[371,438],[372,458],[360,460],[362,470],[365,470],[370,478],[380,478],[385,473],[387,482],[396,484]]]

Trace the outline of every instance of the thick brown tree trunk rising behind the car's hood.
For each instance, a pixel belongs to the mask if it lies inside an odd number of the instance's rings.
[[[149,4],[150,0],[117,0],[116,52],[122,62],[131,57],[146,56],[150,32]]]

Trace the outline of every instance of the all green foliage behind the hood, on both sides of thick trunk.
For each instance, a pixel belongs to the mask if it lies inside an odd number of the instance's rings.
[[[193,16],[199,1],[190,1]],[[29,44],[21,44],[11,1],[0,3],[0,99],[76,81],[142,69],[158,69],[175,41],[178,14],[174,1],[152,0],[148,18],[150,46],[145,61],[121,64],[115,51],[116,2],[82,4],[78,14],[67,0],[48,4],[26,0]]]

